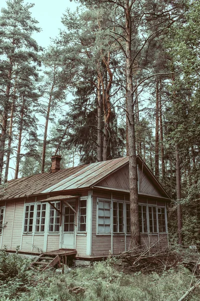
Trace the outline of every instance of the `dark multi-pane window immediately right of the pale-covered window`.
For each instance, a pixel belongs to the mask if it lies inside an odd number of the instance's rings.
[[[113,202],[113,232],[123,232],[123,203]]]

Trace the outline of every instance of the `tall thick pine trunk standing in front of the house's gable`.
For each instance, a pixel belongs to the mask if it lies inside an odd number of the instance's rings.
[[[129,154],[129,190],[130,190],[130,244],[140,244],[138,192],[137,192],[137,163],[135,149],[134,109],[133,109],[133,84],[131,68],[131,7],[129,1],[124,4],[125,13],[125,38],[126,38],[126,103],[128,119],[128,154]]]

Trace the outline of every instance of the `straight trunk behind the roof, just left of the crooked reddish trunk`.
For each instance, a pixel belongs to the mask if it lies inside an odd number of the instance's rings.
[[[102,101],[100,90],[100,72],[97,73],[97,161],[102,161]]]

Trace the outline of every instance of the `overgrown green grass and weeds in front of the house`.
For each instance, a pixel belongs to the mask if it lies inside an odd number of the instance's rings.
[[[116,269],[110,260],[65,271],[26,271],[25,281],[20,279],[20,273],[18,278],[1,280],[0,301],[177,301],[192,277],[182,265],[160,275],[128,274]],[[187,300],[199,299],[197,289]]]

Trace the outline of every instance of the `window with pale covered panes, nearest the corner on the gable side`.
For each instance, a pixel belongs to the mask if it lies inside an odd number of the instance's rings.
[[[98,233],[110,233],[110,202],[98,201]]]

